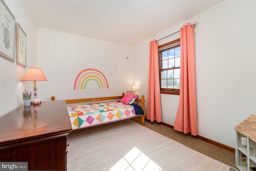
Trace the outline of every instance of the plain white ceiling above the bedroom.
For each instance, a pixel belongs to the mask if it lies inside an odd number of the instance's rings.
[[[135,46],[224,0],[25,1],[38,27]]]

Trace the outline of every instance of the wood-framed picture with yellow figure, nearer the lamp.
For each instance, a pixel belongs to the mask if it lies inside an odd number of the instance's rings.
[[[27,67],[27,35],[16,22],[16,64]]]

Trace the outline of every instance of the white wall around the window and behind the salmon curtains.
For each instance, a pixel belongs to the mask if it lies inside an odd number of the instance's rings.
[[[235,147],[234,127],[256,114],[255,6],[255,0],[226,0],[134,48],[134,58],[142,58],[147,70],[150,40],[176,32],[188,22],[199,22],[195,28],[198,135],[231,147]],[[171,36],[159,44],[174,39]],[[139,71],[134,68],[134,73]],[[140,89],[145,94],[147,84]],[[174,125],[178,97],[161,95],[163,122]]]

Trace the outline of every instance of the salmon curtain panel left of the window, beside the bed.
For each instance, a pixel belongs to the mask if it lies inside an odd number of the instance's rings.
[[[162,122],[159,85],[158,43],[156,40],[150,42],[146,119],[150,120],[151,122]]]

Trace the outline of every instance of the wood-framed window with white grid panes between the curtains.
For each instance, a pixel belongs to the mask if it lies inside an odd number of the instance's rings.
[[[180,94],[180,39],[158,46],[160,91]]]

